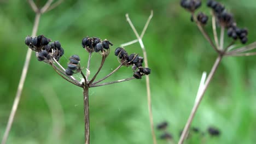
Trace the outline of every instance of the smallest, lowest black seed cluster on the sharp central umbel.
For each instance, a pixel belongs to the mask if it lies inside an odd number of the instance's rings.
[[[67,75],[73,75],[80,70],[80,58],[78,55],[73,55],[69,58],[68,68],[65,70]]]

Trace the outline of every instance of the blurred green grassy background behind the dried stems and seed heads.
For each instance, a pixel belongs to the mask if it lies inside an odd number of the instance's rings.
[[[45,1],[37,1],[41,5]],[[200,10],[210,14],[205,6]],[[249,29],[249,42],[256,37],[256,2],[223,2],[235,15],[237,25]],[[190,14],[178,0],[64,1],[44,14],[37,34],[59,40],[65,49],[62,65],[78,54],[86,66],[88,53],[82,38],[107,38],[111,54],[98,75],[103,77],[119,63],[113,50],[135,39],[125,14],[142,31],[150,10],[154,17],[143,41],[148,52],[154,124],[168,122],[168,131],[177,142],[194,104],[203,71],[211,70],[217,54],[202,37]],[[31,35],[34,13],[27,1],[0,1],[0,137],[2,139],[25,61],[25,37]],[[211,21],[209,22],[211,24]],[[211,25],[207,31],[211,33]],[[226,39],[225,45],[231,41]],[[127,46],[129,53],[142,51],[139,44]],[[100,55],[92,56],[94,73]],[[256,142],[256,63],[252,57],[225,57],[214,76],[193,121],[205,131],[219,128],[219,137],[193,134],[187,143]],[[131,77],[131,68],[122,68],[107,81]],[[8,143],[83,143],[83,91],[57,75],[50,65],[32,55],[24,91]],[[90,89],[91,143],[152,143],[149,127],[145,78]],[[156,130],[159,137],[161,131]],[[167,143],[158,138],[158,143]]]

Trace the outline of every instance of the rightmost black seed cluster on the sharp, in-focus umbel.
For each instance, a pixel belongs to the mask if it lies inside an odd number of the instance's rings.
[[[118,56],[121,63],[124,65],[132,65],[132,69],[134,71],[133,76],[136,79],[141,79],[143,75],[149,75],[151,70],[149,68],[143,68],[143,57],[138,56],[138,54],[132,53],[128,55],[123,47],[118,47],[115,49],[115,56]],[[136,70],[137,69],[137,70]]]

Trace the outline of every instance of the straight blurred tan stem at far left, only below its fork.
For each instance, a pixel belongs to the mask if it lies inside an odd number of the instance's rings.
[[[32,37],[36,36],[40,16],[41,16],[41,14],[37,13],[36,17],[34,19]],[[21,97],[23,86],[24,86],[24,82],[26,80],[28,66],[30,65],[31,53],[32,53],[32,50],[28,49],[27,50],[27,55],[26,55],[26,60],[25,60],[24,67],[22,69],[22,74],[21,74],[20,81],[19,81],[18,90],[17,90],[16,96],[15,96],[15,99],[14,99],[14,103],[13,103],[13,107],[11,109],[10,116],[9,116],[9,119],[8,119],[7,128],[5,129],[3,140],[1,142],[2,144],[6,143],[6,141],[8,139],[8,136],[9,136],[10,129],[11,129],[11,125],[13,124],[14,116],[15,116],[15,113],[17,111],[17,108],[18,108],[18,105],[19,105],[19,102],[20,102],[20,97]]]

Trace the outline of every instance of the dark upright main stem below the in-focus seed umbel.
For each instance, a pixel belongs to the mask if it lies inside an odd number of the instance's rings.
[[[90,119],[89,119],[89,87],[84,86],[84,137],[85,144],[90,143]]]

